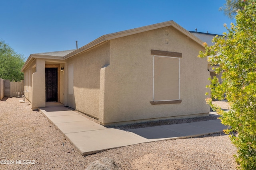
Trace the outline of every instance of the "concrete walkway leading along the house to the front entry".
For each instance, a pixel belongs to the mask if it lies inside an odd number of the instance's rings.
[[[216,119],[124,131],[99,125],[61,104],[39,108],[39,111],[58,127],[83,156],[138,143],[198,137],[226,129]]]

